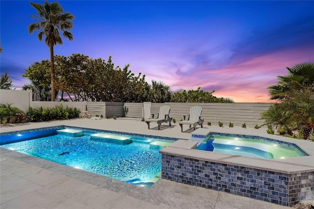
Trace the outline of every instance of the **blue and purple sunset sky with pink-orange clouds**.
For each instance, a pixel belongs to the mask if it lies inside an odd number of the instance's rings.
[[[43,3],[44,1],[32,1]],[[52,1],[49,1],[52,2]],[[314,1],[59,0],[76,18],[54,54],[107,60],[173,92],[201,87],[237,103],[269,103],[267,86],[286,67],[314,62]],[[50,59],[29,34],[36,10],[27,0],[0,1],[0,72],[13,88],[28,66]]]

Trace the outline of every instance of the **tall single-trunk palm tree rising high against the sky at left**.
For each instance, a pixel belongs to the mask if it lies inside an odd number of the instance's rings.
[[[32,34],[35,30],[41,30],[37,34],[39,41],[45,37],[45,43],[50,50],[51,61],[51,99],[55,100],[54,87],[54,58],[53,47],[57,44],[62,45],[59,30],[63,31],[63,36],[70,41],[73,40],[73,35],[68,30],[73,28],[72,20],[75,18],[70,12],[63,13],[63,9],[58,2],[49,3],[45,1],[43,4],[29,2],[36,10],[38,15],[32,15],[38,22],[27,26],[28,32]]]

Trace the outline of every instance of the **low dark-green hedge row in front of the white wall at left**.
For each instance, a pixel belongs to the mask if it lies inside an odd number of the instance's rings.
[[[29,107],[26,118],[29,122],[41,122],[78,118],[79,114],[80,109],[68,106],[64,108],[62,105],[54,106],[52,108],[40,107],[39,109]]]

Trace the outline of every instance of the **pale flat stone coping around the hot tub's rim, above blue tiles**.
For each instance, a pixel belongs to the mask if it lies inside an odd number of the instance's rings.
[[[210,130],[210,129],[209,129]],[[196,130],[199,132],[200,130]],[[216,132],[216,131],[215,131]],[[220,131],[221,132],[221,131]],[[193,132],[192,132],[193,133]],[[230,134],[243,134],[240,131],[228,132],[224,131],[221,133]],[[247,134],[246,134],[247,135]],[[254,134],[250,134],[254,135]],[[256,169],[267,169],[274,172],[285,172],[287,174],[294,174],[299,172],[314,171],[314,143],[310,141],[302,141],[291,139],[288,137],[270,135],[270,134],[255,134],[254,136],[262,136],[266,138],[272,138],[280,141],[286,141],[289,143],[296,144],[302,150],[304,150],[309,156],[302,157],[288,157],[284,159],[263,159],[256,157],[243,157],[236,155],[229,155],[223,153],[214,153],[203,150],[195,150],[197,143],[196,141],[190,140],[178,140],[168,147],[160,151],[161,154],[177,155],[180,157],[196,157],[197,159],[210,160],[219,163],[232,164],[238,166],[250,166]],[[271,136],[271,137],[270,137]]]

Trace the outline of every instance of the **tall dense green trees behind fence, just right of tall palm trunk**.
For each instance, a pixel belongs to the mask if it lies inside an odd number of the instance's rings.
[[[55,56],[56,87],[71,100],[96,102],[147,102],[151,86],[145,75],[135,76],[126,65],[115,67],[111,56],[105,61],[74,53],[71,56]],[[83,78],[83,79],[82,79]],[[156,94],[157,95],[157,94]],[[153,101],[154,102],[154,101]],[[159,101],[160,102],[160,101]]]

